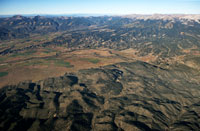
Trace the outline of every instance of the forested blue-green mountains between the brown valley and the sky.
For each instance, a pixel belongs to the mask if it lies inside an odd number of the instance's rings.
[[[192,15],[190,18],[198,18],[197,16]],[[141,56],[152,52],[154,55],[169,57],[184,54],[183,49],[200,48],[199,19],[182,19],[183,17],[189,18],[189,15],[52,18],[13,16],[0,19],[0,39],[61,32],[53,40],[30,48],[49,45],[64,45],[72,50],[135,48],[140,50],[138,53]],[[20,50],[9,48],[0,51],[0,54],[18,51]]]

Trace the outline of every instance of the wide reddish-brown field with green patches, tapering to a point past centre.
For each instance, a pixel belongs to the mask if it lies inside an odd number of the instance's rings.
[[[115,54],[110,54],[108,49],[62,52],[59,55],[34,51],[33,54],[28,55],[3,57],[0,72],[7,71],[8,74],[1,77],[1,87],[7,84],[17,84],[24,80],[38,81],[48,77],[60,76],[66,72],[76,72],[80,69],[95,68],[124,61],[116,57]],[[18,77],[19,75],[20,77]]]

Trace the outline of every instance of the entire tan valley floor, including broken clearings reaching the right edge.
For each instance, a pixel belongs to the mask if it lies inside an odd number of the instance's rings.
[[[76,72],[80,69],[97,68],[119,62],[136,60],[155,63],[158,56],[137,56],[135,49],[116,51],[112,49],[85,49],[67,51],[63,48],[48,48],[31,50],[17,54],[1,56],[0,72],[8,72],[1,76],[0,86],[17,84],[24,80],[38,81],[48,77],[56,77],[66,72]],[[196,54],[197,58],[200,56]],[[184,62],[184,56],[162,60],[162,63]],[[195,59],[197,59],[195,58]],[[194,63],[194,62],[193,62]],[[192,63],[186,62],[192,66]],[[193,64],[194,65],[194,64]],[[198,68],[197,66],[192,66]],[[20,75],[20,77],[18,77]]]

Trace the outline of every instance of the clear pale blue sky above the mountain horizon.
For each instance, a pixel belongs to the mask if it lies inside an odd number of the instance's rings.
[[[200,0],[0,0],[16,14],[200,14]]]

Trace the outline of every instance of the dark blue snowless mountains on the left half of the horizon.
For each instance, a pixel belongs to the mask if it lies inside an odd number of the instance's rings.
[[[47,34],[90,25],[84,18],[67,17],[47,18],[43,16],[24,17],[16,15],[0,18],[0,39],[24,38],[31,34]]]

